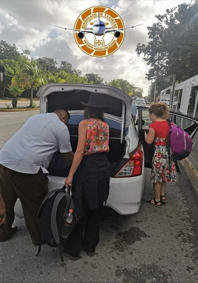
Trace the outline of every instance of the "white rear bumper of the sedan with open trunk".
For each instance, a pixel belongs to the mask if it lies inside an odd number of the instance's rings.
[[[48,178],[49,191],[64,186],[65,178],[53,176],[48,176]],[[137,213],[143,190],[144,174],[136,177],[111,178],[109,198],[106,205],[122,215]]]

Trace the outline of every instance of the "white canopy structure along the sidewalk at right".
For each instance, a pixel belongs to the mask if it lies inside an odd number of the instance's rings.
[[[175,91],[179,90],[178,96],[177,96],[177,106],[178,106],[178,102],[179,102],[179,98],[180,98],[179,95],[181,95],[181,93],[182,93],[180,108],[178,110],[179,110],[179,112],[181,112],[185,115],[187,115],[187,112],[188,112],[189,100],[190,100],[190,95],[192,93],[193,87],[198,88],[198,74],[193,76],[192,78],[184,80],[181,83],[175,84],[174,93],[175,93]],[[164,90],[162,90],[160,92],[160,102],[165,101],[165,94],[167,93],[168,90],[170,90],[170,93],[172,93],[172,85],[169,86],[168,88],[165,88]],[[196,114],[196,111],[197,111],[197,103],[198,103],[197,92],[198,91],[196,91],[193,117],[195,117],[195,114]],[[174,97],[174,95],[173,95],[173,97]],[[177,112],[177,108],[178,108],[177,106],[176,106],[175,112]]]

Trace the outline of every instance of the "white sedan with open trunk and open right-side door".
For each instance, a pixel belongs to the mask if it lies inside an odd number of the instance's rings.
[[[40,98],[40,113],[53,112],[60,107],[69,111],[71,118],[68,128],[72,150],[75,152],[78,125],[84,119],[83,105],[80,102],[87,102],[93,92],[102,93],[106,105],[112,107],[104,114],[110,127],[108,159],[112,165],[106,205],[122,215],[136,213],[144,190],[144,167],[150,167],[142,146],[144,131],[148,131],[150,123],[148,109],[138,108],[135,126],[132,119],[132,99],[121,89],[107,85],[50,83],[43,85],[37,93]],[[194,119],[193,124],[190,121],[191,130],[194,123],[198,125],[198,120]],[[59,152],[54,154],[48,171],[49,190],[63,187],[69,166]]]

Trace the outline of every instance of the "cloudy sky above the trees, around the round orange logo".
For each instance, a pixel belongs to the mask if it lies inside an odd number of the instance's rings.
[[[156,14],[164,14],[166,9],[183,2],[190,0],[0,0],[0,40],[15,43],[19,50],[28,48],[35,58],[47,56],[58,57],[57,63],[68,61],[83,74],[88,69],[88,73],[97,73],[105,80],[127,79],[142,87],[145,96],[150,84],[145,79],[148,66],[142,57],[137,57],[137,42],[148,42],[147,26],[156,22]],[[72,31],[47,25],[73,28],[82,11],[96,5],[115,9],[125,27],[143,23],[127,29],[119,50],[103,58],[82,52]]]

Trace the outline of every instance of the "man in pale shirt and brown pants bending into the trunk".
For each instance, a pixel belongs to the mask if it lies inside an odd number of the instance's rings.
[[[67,128],[69,112],[37,114],[0,150],[0,241],[17,231],[14,205],[20,199],[27,229],[35,246],[43,243],[37,225],[40,205],[48,193],[47,168],[54,152],[60,151],[71,165],[74,153]]]

